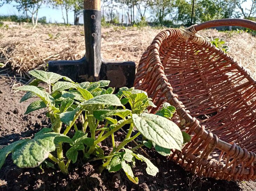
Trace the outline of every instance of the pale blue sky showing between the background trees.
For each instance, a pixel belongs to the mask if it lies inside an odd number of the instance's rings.
[[[242,6],[244,8],[248,8],[250,4],[251,0],[247,0],[242,4]],[[15,7],[13,7],[14,5],[16,5],[16,3],[13,1],[9,4],[5,4],[2,7],[0,7],[0,15],[22,15],[21,12],[18,12],[18,10]],[[47,22],[63,23],[61,9],[53,9],[50,8],[49,5],[42,5],[39,9],[38,15],[39,17],[45,16]],[[74,24],[74,13],[72,11],[69,11],[68,13],[68,21],[70,24]],[[80,16],[79,23],[83,23],[82,16]]]

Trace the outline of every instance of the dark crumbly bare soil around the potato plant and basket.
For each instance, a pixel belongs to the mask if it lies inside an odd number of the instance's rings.
[[[21,94],[10,94],[7,85],[0,84],[0,145],[33,136],[42,127],[48,126],[43,110],[23,115],[30,103],[19,103]],[[39,114],[39,115],[38,115]],[[118,139],[124,134],[117,133]],[[106,144],[111,142],[106,140]],[[108,147],[102,147],[109,152]],[[200,178],[184,171],[180,166],[158,155],[153,150],[147,150],[151,161],[159,168],[159,173],[153,177],[147,175],[146,164],[136,161],[133,168],[139,184],[128,180],[123,171],[109,173],[97,171],[100,162],[78,163],[70,165],[70,173],[65,176],[52,168],[20,169],[11,160],[11,156],[0,170],[0,190],[256,190],[256,184],[249,182],[217,181],[212,178]]]

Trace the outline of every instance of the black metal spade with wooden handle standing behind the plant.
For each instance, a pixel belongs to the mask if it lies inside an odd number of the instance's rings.
[[[111,87],[132,87],[135,79],[134,62],[101,58],[100,0],[84,0],[83,20],[85,56],[80,60],[49,61],[49,71],[77,82],[110,80]]]

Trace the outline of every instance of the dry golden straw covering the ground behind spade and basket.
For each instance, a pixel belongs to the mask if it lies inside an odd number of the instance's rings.
[[[153,38],[163,29],[103,28],[101,53],[108,60],[135,61],[146,50]],[[226,33],[204,30],[200,35],[222,38],[230,47],[229,54],[256,76],[256,38],[236,31]],[[43,69],[49,60],[76,60],[85,54],[82,26],[17,25],[0,28],[0,62],[7,64],[20,77],[29,77],[31,69]]]

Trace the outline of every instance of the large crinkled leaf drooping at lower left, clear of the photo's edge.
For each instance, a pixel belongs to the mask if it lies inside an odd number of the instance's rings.
[[[38,133],[34,139],[23,142],[12,153],[14,164],[20,168],[32,168],[39,166],[55,150],[54,139],[59,133]]]

